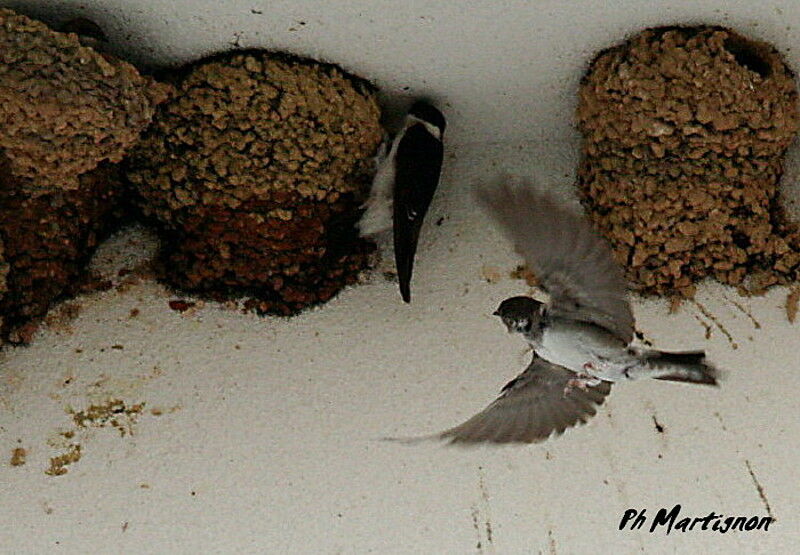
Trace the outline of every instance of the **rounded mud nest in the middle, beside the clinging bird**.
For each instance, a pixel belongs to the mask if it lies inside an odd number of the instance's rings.
[[[372,88],[242,51],[192,65],[177,89],[128,162],[166,280],[282,315],[353,283],[374,249],[354,229],[382,138]]]

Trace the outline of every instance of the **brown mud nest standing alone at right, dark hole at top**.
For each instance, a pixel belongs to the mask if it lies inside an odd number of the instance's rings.
[[[691,296],[708,276],[751,291],[797,279],[800,236],[778,192],[797,99],[774,48],[719,27],[647,30],[594,59],[580,193],[634,287]]]

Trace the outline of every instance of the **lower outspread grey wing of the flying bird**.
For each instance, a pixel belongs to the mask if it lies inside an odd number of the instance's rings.
[[[537,443],[555,432],[585,423],[603,404],[611,384],[600,384],[564,395],[575,374],[534,354],[528,368],[503,388],[482,412],[437,437],[450,443]]]

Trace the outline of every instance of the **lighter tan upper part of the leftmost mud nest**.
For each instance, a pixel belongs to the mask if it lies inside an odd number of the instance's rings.
[[[0,9],[0,149],[26,185],[74,188],[103,160],[119,162],[165,94],[74,33]]]

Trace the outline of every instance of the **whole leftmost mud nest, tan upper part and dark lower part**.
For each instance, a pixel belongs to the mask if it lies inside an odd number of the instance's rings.
[[[0,9],[0,342],[71,293],[121,195],[111,163],[168,87]]]

